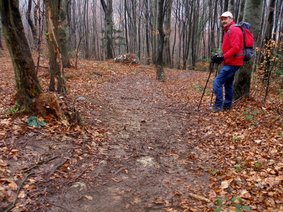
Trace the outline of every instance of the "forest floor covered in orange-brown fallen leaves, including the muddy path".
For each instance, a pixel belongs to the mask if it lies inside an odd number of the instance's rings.
[[[38,73],[45,91],[47,73]],[[213,78],[195,110],[208,72],[165,69],[158,82],[153,66],[79,60],[65,74],[61,99],[84,126],[47,117],[46,126],[29,127],[31,116],[3,117],[16,92],[9,53],[1,52],[0,211],[16,196],[10,211],[283,211],[276,85],[262,102],[254,80],[249,98],[216,113],[207,109]]]

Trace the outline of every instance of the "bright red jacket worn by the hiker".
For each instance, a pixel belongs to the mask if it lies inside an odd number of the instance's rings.
[[[240,27],[232,27],[230,30],[230,38],[228,36],[228,28],[232,24],[235,24],[234,21],[228,27],[224,27],[225,30],[222,51],[224,56],[224,61],[222,65],[243,65],[244,55],[239,57],[234,57],[237,54],[243,54],[243,32]],[[229,43],[230,40],[230,43]]]

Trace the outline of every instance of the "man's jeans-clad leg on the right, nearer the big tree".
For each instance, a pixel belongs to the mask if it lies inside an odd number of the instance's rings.
[[[224,107],[228,108],[232,106],[233,100],[233,81],[236,71],[240,68],[240,66],[232,66],[230,69],[231,77],[228,78],[224,82],[224,89],[225,89],[225,100],[224,100]]]

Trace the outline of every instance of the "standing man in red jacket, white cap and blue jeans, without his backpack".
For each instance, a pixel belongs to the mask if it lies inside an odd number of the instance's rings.
[[[236,71],[243,65],[243,32],[240,27],[231,26],[235,24],[231,12],[223,13],[219,19],[225,31],[221,56],[215,55],[212,58],[213,63],[220,64],[222,62],[223,68],[221,72],[213,81],[213,89],[215,92],[214,106],[209,107],[208,110],[220,112],[223,110],[232,109],[233,99],[233,80]],[[228,29],[230,29],[230,37],[228,36]],[[225,100],[223,102],[223,85],[225,89]]]

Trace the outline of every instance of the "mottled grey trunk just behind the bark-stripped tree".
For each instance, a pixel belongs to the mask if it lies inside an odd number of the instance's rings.
[[[60,49],[62,54],[63,67],[71,67],[69,52],[68,52],[68,38],[67,38],[67,27],[69,22],[66,23],[67,11],[69,7],[70,0],[60,0],[60,12],[59,12],[59,27],[58,36]]]

